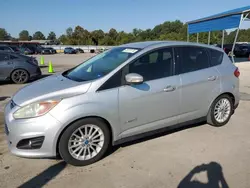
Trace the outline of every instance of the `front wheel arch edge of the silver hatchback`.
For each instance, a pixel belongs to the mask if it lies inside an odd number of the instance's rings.
[[[56,155],[60,155],[60,154],[59,154],[59,141],[60,141],[60,139],[61,139],[61,137],[62,137],[64,131],[65,131],[70,125],[72,125],[73,123],[75,123],[75,122],[77,122],[77,121],[79,121],[79,120],[88,119],[88,118],[96,118],[96,119],[99,119],[99,120],[103,121],[103,122],[107,125],[107,127],[108,127],[108,129],[109,129],[109,131],[110,131],[111,144],[113,143],[113,139],[114,139],[114,138],[113,138],[113,129],[112,129],[111,124],[109,123],[108,120],[106,120],[105,118],[100,117],[100,116],[85,116],[85,117],[82,117],[82,118],[75,119],[74,121],[70,122],[68,125],[66,125],[66,126],[62,129],[62,131],[60,132],[60,134],[59,134],[59,136],[57,137],[57,140],[56,140]]]

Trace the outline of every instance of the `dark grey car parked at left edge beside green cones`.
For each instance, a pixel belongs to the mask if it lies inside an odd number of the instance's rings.
[[[39,77],[41,70],[34,57],[0,51],[0,80],[12,80],[23,84],[30,79]]]

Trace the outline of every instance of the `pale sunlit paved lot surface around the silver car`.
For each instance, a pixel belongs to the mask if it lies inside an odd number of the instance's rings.
[[[49,55],[56,72],[90,54]],[[39,58],[39,56],[38,56]],[[241,102],[230,122],[166,131],[117,146],[101,161],[73,167],[55,159],[11,155],[3,131],[3,107],[22,85],[0,83],[0,187],[174,188],[250,187],[250,63],[239,63]],[[47,74],[47,68],[42,68]]]

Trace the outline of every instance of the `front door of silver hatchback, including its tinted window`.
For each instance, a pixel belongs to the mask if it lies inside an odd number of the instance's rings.
[[[155,130],[178,122],[180,79],[174,75],[173,49],[151,51],[123,69],[144,82],[119,88],[121,137]]]

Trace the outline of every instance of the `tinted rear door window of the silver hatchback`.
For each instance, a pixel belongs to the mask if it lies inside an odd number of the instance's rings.
[[[176,51],[180,73],[197,71],[209,67],[209,56],[205,48],[178,47]]]

